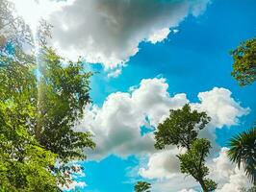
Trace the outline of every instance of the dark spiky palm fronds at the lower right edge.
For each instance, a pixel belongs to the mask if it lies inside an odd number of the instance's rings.
[[[228,156],[238,167],[243,164],[245,174],[256,184],[256,127],[235,135],[229,140]]]

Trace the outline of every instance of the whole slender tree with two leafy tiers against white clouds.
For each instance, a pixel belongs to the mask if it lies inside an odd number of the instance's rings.
[[[210,120],[206,112],[192,110],[186,104],[180,109],[170,109],[169,116],[154,132],[156,149],[164,149],[167,145],[187,149],[185,154],[177,156],[181,162],[181,172],[191,175],[205,192],[215,190],[217,184],[205,178],[209,174],[205,157],[209,154],[211,144],[207,139],[198,139],[197,136]]]

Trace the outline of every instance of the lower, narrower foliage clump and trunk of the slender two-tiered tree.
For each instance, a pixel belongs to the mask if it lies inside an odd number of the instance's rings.
[[[215,181],[205,179],[209,174],[209,169],[205,166],[205,157],[208,156],[210,148],[211,144],[207,139],[195,139],[190,150],[178,155],[181,173],[191,175],[201,184],[204,191],[214,191],[217,188]]]

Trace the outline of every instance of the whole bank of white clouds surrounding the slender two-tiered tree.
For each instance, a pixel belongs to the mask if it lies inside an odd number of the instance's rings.
[[[147,160],[140,165],[139,174],[149,180],[158,180],[153,185],[154,191],[169,191],[170,183],[175,184],[176,188],[173,191],[194,189],[198,187],[198,183],[191,177],[186,178],[186,186],[175,183],[185,182],[185,175],[179,173],[179,162],[176,157],[181,152],[174,146],[164,151],[156,151],[153,133],[141,134],[143,126],[156,128],[166,118],[170,108],[181,108],[190,103],[186,94],[170,96],[167,89],[168,84],[164,78],[144,79],[139,86],[132,86],[128,92],[112,93],[102,107],[93,105],[86,108],[84,120],[75,129],[94,134],[96,150],[86,152],[92,159],[100,160],[109,155],[136,155],[139,158],[141,155],[147,156]],[[232,98],[231,92],[221,87],[200,92],[198,99],[198,103],[191,103],[192,108],[204,110],[212,117],[211,123],[200,136],[212,141],[216,148],[213,155],[216,156],[219,153],[219,147],[215,142],[216,128],[238,124],[238,118],[247,114],[249,108],[241,107],[240,103]],[[213,170],[211,178],[220,183],[220,192],[227,190],[228,187],[234,187],[235,183],[246,184],[243,171],[230,164],[224,149],[217,158],[208,158],[207,163]],[[224,171],[220,173],[216,170]]]

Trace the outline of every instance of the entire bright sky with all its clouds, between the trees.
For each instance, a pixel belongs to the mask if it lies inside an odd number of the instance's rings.
[[[228,139],[256,118],[256,84],[237,84],[229,54],[255,37],[254,0],[13,1],[34,29],[40,16],[53,25],[50,44],[58,53],[82,56],[95,72],[93,103],[74,129],[92,132],[97,147],[75,162],[85,170],[67,191],[131,192],[138,180],[154,192],[200,191],[180,173],[180,150],[153,147],[168,110],[186,103],[212,117],[200,136],[212,142],[207,165],[217,192],[249,186],[226,151]]]

